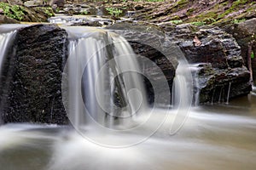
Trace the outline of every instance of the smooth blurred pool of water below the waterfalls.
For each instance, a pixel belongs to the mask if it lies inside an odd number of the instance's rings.
[[[148,140],[119,149],[91,143],[72,127],[4,125],[0,127],[1,169],[253,170],[256,167],[255,104],[256,96],[250,94],[230,100],[230,105],[195,107],[181,130],[172,136],[171,114]],[[161,112],[156,111],[155,118],[160,118]],[[140,135],[143,131],[114,138],[132,140]],[[97,138],[113,139],[108,134]]]

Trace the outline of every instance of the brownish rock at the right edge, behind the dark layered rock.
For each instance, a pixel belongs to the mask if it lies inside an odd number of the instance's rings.
[[[224,26],[224,30],[229,32],[236,38],[236,41],[241,46],[241,56],[246,61],[247,68],[252,65],[253,81],[256,85],[256,18],[246,20],[238,24]],[[250,59],[251,58],[251,59]],[[250,62],[251,60],[251,62]]]

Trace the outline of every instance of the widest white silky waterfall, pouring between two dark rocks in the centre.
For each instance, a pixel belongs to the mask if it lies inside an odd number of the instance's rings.
[[[125,38],[93,28],[65,29],[70,43],[62,91],[73,125],[105,126],[142,112],[147,104],[141,71]]]

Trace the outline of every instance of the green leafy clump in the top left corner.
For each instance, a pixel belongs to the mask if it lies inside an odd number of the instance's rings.
[[[19,5],[11,6],[9,3],[0,3],[0,8],[3,9],[4,15],[15,20],[22,20],[25,16],[25,9]]]

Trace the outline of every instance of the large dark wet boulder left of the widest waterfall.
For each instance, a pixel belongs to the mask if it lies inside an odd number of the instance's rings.
[[[3,122],[67,123],[61,99],[66,58],[67,32],[58,26],[17,31],[0,84]]]

